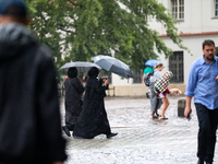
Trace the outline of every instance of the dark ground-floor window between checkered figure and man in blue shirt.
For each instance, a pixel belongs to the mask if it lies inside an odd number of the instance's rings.
[[[173,78],[170,82],[182,83],[184,82],[183,75],[183,51],[174,51],[169,58],[169,70],[172,71]]]

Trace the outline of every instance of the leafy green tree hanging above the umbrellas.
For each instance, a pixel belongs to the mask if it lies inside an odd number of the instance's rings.
[[[164,24],[168,37],[180,48],[175,21],[157,0],[27,0],[40,42],[55,52],[59,68],[69,61],[90,61],[96,55],[109,55],[128,63],[133,70],[144,68],[147,59],[159,54],[172,55],[152,28],[147,19]],[[122,9],[119,3],[125,5]],[[64,57],[64,58],[63,58]]]

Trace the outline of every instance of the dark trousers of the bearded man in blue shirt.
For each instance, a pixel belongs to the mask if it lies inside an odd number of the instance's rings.
[[[195,107],[199,127],[197,156],[206,162],[213,162],[218,125],[218,108],[211,110],[198,103],[195,103]]]

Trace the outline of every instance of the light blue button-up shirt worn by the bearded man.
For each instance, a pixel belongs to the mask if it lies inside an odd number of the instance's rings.
[[[192,63],[186,96],[194,96],[194,103],[201,103],[208,109],[218,108],[218,57],[211,63],[205,61],[204,56]]]

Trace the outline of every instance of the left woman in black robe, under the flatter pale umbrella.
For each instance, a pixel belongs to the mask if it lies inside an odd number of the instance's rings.
[[[72,67],[68,70],[68,79],[64,82],[65,86],[65,126],[62,127],[68,137],[71,137],[70,131],[73,131],[75,121],[82,112],[82,94],[84,86],[77,77],[77,69]]]

